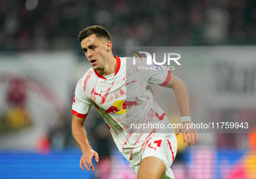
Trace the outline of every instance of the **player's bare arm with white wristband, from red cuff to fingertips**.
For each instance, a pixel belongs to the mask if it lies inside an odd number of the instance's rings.
[[[188,90],[185,83],[178,77],[172,75],[169,82],[165,85],[167,88],[172,88],[178,102],[178,107],[182,116],[190,116],[190,107],[189,107],[189,96]],[[176,135],[180,132],[182,133],[183,141],[186,143],[186,136],[188,138],[188,146],[194,144],[194,137],[198,141],[198,133],[194,128],[187,128],[187,124],[191,124],[191,121],[183,121],[183,128],[177,128]],[[191,126],[191,125],[190,125]]]

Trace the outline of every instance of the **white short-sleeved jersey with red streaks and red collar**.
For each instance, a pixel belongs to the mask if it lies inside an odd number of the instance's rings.
[[[72,113],[85,118],[94,105],[107,123],[120,152],[127,160],[132,160],[133,148],[143,150],[151,137],[161,133],[159,128],[143,130],[143,125],[139,124],[160,122],[166,126],[170,123],[157,105],[150,84],[165,86],[170,80],[171,71],[164,68],[139,70],[139,66],[145,66],[145,59],[133,65],[133,58],[115,58],[115,74],[103,77],[91,68],[78,81]],[[169,129],[168,133],[172,132]],[[130,152],[126,153],[127,149]]]

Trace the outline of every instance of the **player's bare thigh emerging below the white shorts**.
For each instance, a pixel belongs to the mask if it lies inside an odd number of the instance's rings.
[[[139,166],[137,179],[161,179],[165,169],[165,164],[159,158],[145,157]]]

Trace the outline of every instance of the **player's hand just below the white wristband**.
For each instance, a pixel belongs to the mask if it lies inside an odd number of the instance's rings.
[[[182,122],[181,124],[182,124],[182,125],[180,125],[181,128],[177,127],[176,135],[178,135],[181,132],[184,143],[186,143],[186,136],[188,138],[188,146],[190,146],[191,141],[192,141],[192,144],[194,144],[194,136],[195,136],[196,140],[199,141],[198,133],[192,127],[191,122]]]

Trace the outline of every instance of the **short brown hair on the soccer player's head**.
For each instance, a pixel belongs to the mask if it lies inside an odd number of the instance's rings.
[[[90,35],[96,34],[96,37],[99,38],[106,38],[107,40],[111,41],[110,34],[107,32],[107,29],[105,29],[102,26],[90,26],[87,27],[86,29],[82,30],[78,34],[78,40],[82,42],[84,38],[87,38]]]

